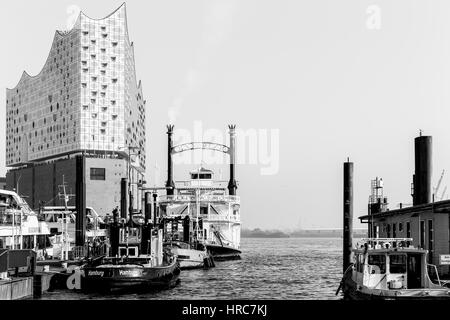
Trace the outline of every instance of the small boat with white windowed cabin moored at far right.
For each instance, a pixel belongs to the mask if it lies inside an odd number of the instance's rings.
[[[437,268],[427,263],[428,251],[415,248],[410,238],[362,239],[353,249],[354,262],[347,268],[336,292],[348,300],[450,299]],[[437,282],[430,279],[428,268]]]

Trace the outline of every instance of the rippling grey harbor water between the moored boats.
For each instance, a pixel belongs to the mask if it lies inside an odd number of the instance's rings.
[[[242,239],[242,259],[209,270],[182,271],[172,289],[125,295],[46,293],[41,299],[330,300],[342,277],[342,239]]]

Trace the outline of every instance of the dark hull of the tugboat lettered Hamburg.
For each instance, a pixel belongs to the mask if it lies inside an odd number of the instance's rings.
[[[85,267],[82,280],[84,291],[157,290],[178,284],[178,261],[163,267]]]

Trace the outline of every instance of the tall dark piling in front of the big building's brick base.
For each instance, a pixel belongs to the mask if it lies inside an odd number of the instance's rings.
[[[86,159],[76,157],[76,229],[75,242],[79,247],[84,246],[86,237]]]

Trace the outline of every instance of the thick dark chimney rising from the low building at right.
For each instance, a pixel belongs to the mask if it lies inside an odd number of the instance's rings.
[[[413,177],[413,204],[431,203],[431,174],[432,174],[432,137],[422,136],[414,140],[415,172]]]

